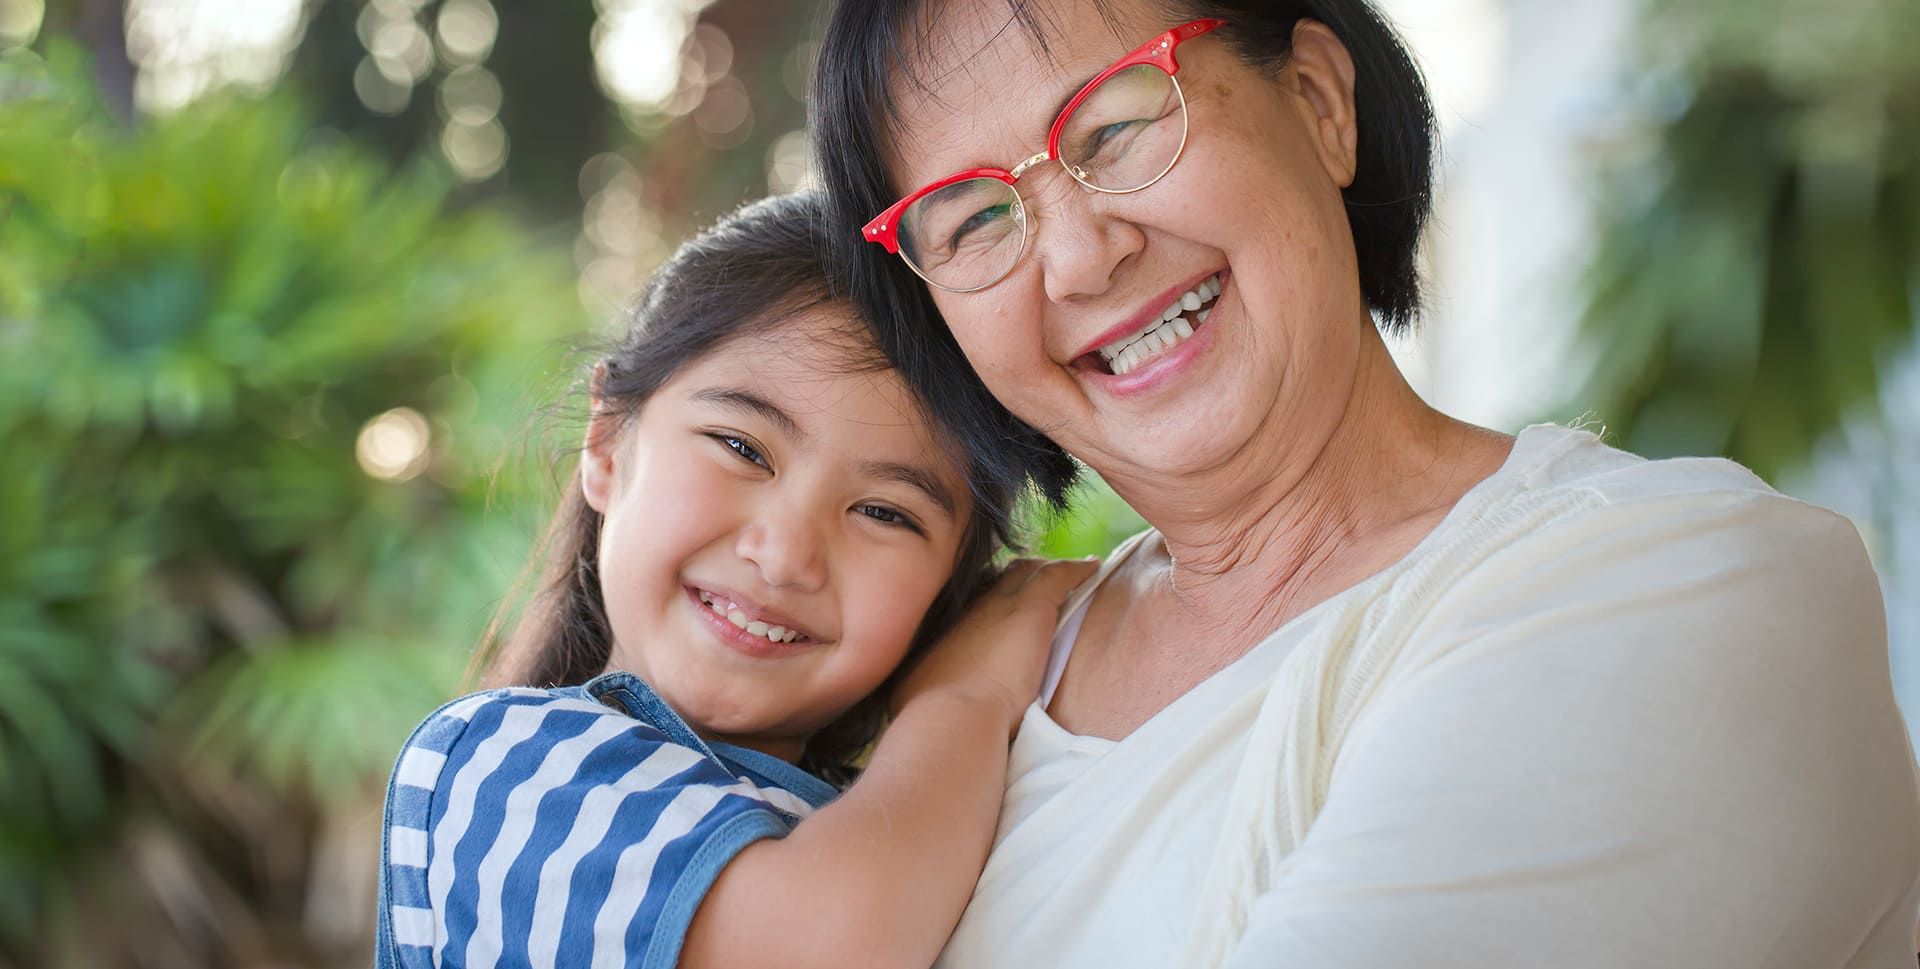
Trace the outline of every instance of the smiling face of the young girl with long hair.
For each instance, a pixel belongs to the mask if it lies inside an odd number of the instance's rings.
[[[722,343],[582,455],[611,668],[695,731],[799,758],[906,654],[972,514],[891,370],[814,307]]]

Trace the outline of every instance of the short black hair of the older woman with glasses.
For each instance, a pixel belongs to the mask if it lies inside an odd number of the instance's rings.
[[[1098,2],[1098,0],[1094,0]],[[937,0],[837,0],[814,67],[814,157],[828,190],[831,244],[847,265],[852,299],[877,328],[876,342],[908,386],[991,447],[1033,474],[1048,495],[1071,482],[1073,464],[1035,428],[993,401],[941,322],[925,284],[906,263],[864,240],[860,226],[912,186],[887,177],[891,132],[900,127],[897,84],[931,90],[914,75],[927,50]],[[1046,0],[1006,0],[1044,48]],[[1167,25],[1219,17],[1217,33],[1242,61],[1275,73],[1292,56],[1294,25],[1325,23],[1354,58],[1359,157],[1346,200],[1359,257],[1359,288],[1386,330],[1411,326],[1421,305],[1415,267],[1432,211],[1434,113],[1419,67],[1367,0],[1162,0]],[[1043,428],[1044,430],[1044,428]]]

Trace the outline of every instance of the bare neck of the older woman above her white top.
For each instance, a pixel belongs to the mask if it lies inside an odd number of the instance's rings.
[[[1236,645],[1409,553],[1509,451],[1511,437],[1434,411],[1373,336],[1325,430],[1269,414],[1223,462],[1121,487],[1165,543],[1156,612]],[[1171,612],[1164,612],[1171,606]]]

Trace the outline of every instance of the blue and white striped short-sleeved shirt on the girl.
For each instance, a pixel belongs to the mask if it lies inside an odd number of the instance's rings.
[[[374,965],[672,967],[720,869],[835,792],[632,674],[453,700],[388,785]]]

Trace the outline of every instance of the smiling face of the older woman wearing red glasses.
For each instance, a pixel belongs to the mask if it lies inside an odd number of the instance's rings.
[[[906,125],[895,188],[1044,148],[1060,106],[1092,75],[1167,31],[1146,0],[1046,4],[1050,54],[1002,0],[941,4],[914,73],[893,81]],[[933,292],[989,390],[1110,480],[1190,472],[1283,447],[1346,405],[1371,326],[1340,188],[1354,171],[1352,63],[1319,25],[1296,31],[1277,75],[1219,33],[1177,50],[1188,134],[1179,163],[1133,194],[1081,188],[1060,165],[1020,178],[1033,217],[1012,274],[973,294]],[[1106,355],[1188,290],[1192,336],[1114,366]],[[1125,370],[1125,372],[1116,372]],[[1281,434],[1260,434],[1279,422]]]

